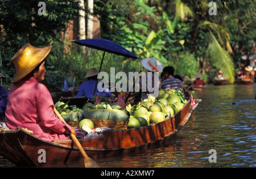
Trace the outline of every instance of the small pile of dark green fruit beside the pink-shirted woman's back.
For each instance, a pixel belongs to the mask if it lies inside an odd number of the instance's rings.
[[[68,101],[69,102],[69,101]],[[77,122],[82,118],[82,113],[84,112],[82,109],[77,108],[76,105],[68,105],[67,103],[63,103],[61,101],[57,101],[54,107],[63,117],[66,122]]]

